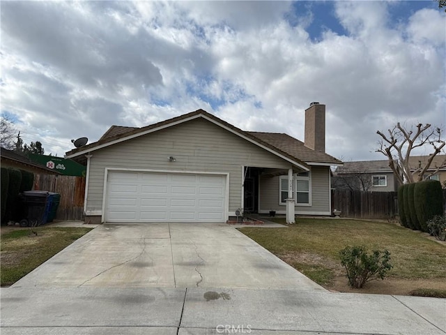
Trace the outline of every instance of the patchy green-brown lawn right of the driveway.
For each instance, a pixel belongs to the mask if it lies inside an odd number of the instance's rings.
[[[274,221],[284,223],[284,218]],[[321,285],[345,274],[339,251],[353,245],[390,251],[394,266],[390,277],[446,281],[446,247],[419,232],[378,221],[298,218],[296,223],[289,228],[241,228],[240,232]]]

